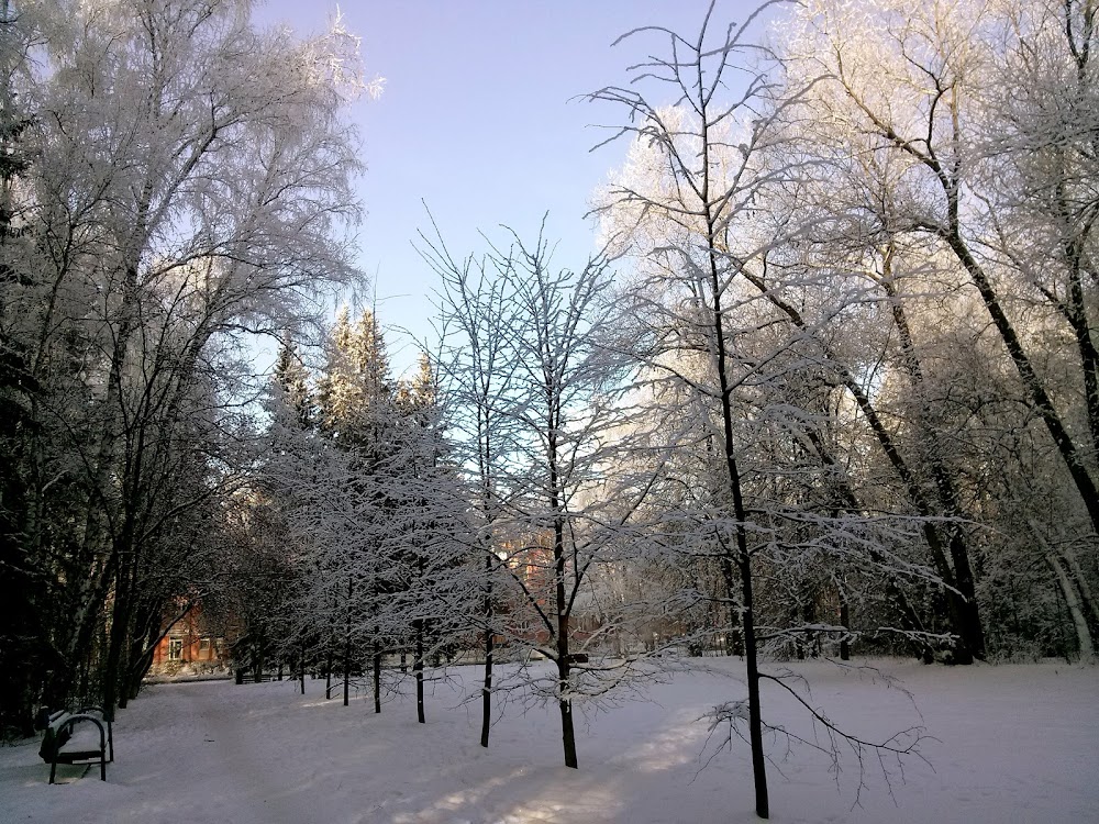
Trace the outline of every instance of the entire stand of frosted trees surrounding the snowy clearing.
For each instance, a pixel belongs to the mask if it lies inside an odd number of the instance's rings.
[[[1096,4],[769,5],[592,79],[628,147],[599,255],[422,230],[439,341],[396,380],[371,311],[325,322],[362,279],[354,37],[5,2],[4,728],[124,708],[198,603],[379,711],[407,657],[421,721],[425,665],[476,653],[481,744],[493,698],[551,702],[574,767],[576,703],[737,655],[714,723],[766,816],[759,688],[806,694],[768,661],[1091,660]],[[499,679],[531,650],[552,676]]]

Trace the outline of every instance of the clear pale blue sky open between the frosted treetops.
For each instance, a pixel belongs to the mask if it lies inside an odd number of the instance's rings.
[[[299,32],[325,27],[329,0],[270,0],[262,21]],[[593,249],[585,220],[588,198],[625,151],[621,143],[589,153],[624,112],[573,100],[624,85],[626,67],[664,41],[622,33],[666,25],[698,31],[708,0],[370,0],[341,4],[345,24],[363,38],[367,71],[386,78],[380,99],[363,101],[367,210],[359,235],[363,269],[376,283],[393,366],[415,357],[399,332],[429,336],[434,275],[412,247],[429,227],[425,201],[457,256],[477,252],[484,231],[507,224],[524,238],[548,212],[555,263],[579,267]],[[743,20],[746,0],[719,0],[715,21]]]

